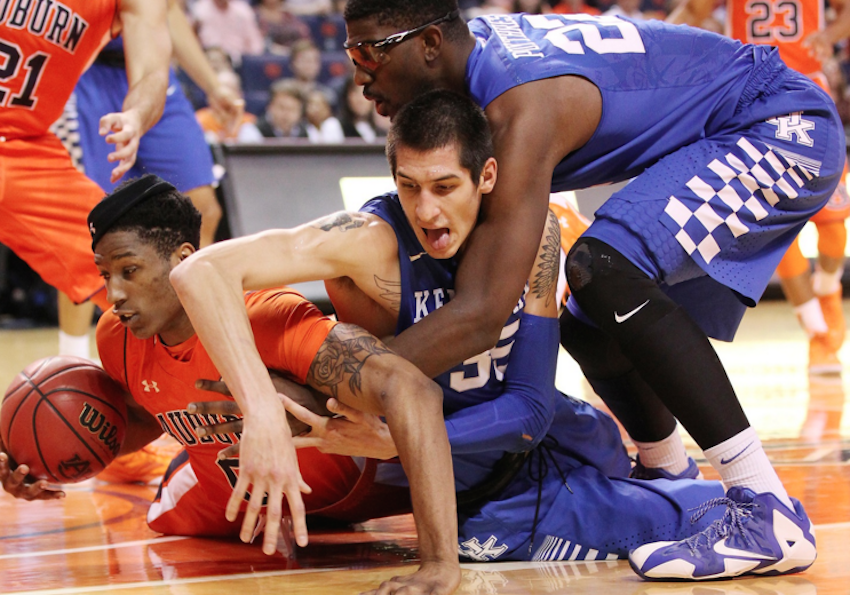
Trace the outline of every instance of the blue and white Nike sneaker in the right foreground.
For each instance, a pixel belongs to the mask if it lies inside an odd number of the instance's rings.
[[[629,552],[632,569],[646,580],[711,580],[773,576],[805,570],[815,561],[814,529],[803,506],[789,509],[771,493],[729,488],[725,498],[700,506],[695,523],[715,506],[726,513],[682,541],[648,543]]]

